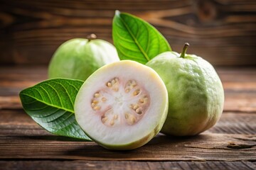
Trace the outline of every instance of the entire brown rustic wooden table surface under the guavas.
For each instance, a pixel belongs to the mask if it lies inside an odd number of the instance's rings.
[[[157,135],[132,151],[51,135],[18,93],[46,67],[0,67],[0,169],[256,169],[256,67],[217,67],[225,89],[219,122],[195,137]]]

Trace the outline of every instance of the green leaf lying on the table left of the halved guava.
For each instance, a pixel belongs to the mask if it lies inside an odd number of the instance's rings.
[[[50,79],[20,93],[21,103],[33,120],[55,135],[91,141],[75,120],[74,102],[83,81]]]

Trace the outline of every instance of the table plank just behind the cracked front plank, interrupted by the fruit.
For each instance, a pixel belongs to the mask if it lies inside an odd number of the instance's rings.
[[[23,110],[4,110],[0,112],[0,135],[44,136],[50,135],[37,125]],[[209,133],[256,134],[256,113],[223,113],[218,123]]]

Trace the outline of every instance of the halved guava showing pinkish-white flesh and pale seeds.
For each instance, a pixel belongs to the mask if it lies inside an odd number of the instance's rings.
[[[164,125],[168,92],[156,72],[122,60],[97,69],[75,98],[75,119],[92,140],[107,149],[135,149]]]

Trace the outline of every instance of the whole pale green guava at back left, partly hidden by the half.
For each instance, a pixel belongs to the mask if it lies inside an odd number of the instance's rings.
[[[48,77],[85,80],[105,64],[119,61],[115,47],[105,40],[74,38],[55,51],[48,67]]]

